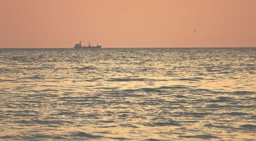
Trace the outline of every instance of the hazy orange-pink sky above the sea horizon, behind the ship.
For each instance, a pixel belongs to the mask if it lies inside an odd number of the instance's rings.
[[[255,47],[255,0],[0,0],[0,48]],[[196,32],[194,31],[196,30]]]

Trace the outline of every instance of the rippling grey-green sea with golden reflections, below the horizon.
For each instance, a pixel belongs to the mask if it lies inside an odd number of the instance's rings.
[[[0,140],[254,140],[255,51],[0,49]]]

